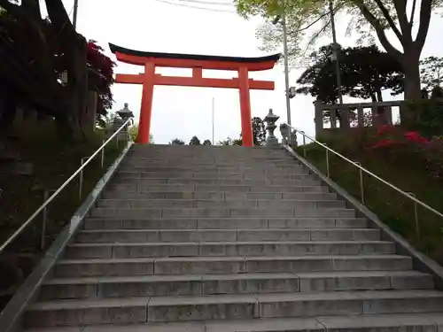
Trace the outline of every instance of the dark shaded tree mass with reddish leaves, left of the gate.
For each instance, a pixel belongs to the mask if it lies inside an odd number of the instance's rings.
[[[43,4],[48,19],[42,19]],[[84,135],[87,90],[98,92],[98,113],[112,104],[113,62],[75,31],[62,0],[0,0],[0,8],[0,93],[7,104],[2,126],[20,104],[55,118],[64,137]]]

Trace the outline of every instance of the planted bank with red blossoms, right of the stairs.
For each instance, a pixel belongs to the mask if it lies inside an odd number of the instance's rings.
[[[391,142],[389,142],[390,140]],[[389,143],[379,144],[388,141]],[[425,143],[425,142],[428,143]],[[425,204],[443,211],[443,140],[424,138],[404,127],[361,128],[346,135],[323,137],[331,149],[361,163],[377,176],[405,192],[412,192]],[[304,150],[304,151],[303,151]],[[315,144],[299,148],[306,158],[326,172],[324,150]],[[361,197],[360,173],[337,156],[330,154],[333,181],[357,198]],[[363,173],[364,203],[392,230],[443,264],[442,220],[417,205],[421,238],[416,235],[415,205],[408,197]]]

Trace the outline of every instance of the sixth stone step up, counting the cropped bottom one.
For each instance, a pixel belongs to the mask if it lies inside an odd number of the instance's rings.
[[[82,230],[77,243],[184,243],[256,241],[378,241],[378,229],[94,229]]]

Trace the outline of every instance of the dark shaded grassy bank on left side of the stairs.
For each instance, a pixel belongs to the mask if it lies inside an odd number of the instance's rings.
[[[0,243],[12,235],[35,210],[43,204],[44,190],[55,190],[81,166],[81,159],[89,157],[105,139],[104,131],[97,131],[83,142],[60,140],[51,123],[22,122],[12,129],[13,148],[21,161],[32,163],[30,175],[0,174]],[[83,175],[82,199],[87,197],[108,166],[120,155],[114,142],[105,150],[101,167],[100,155],[86,167]],[[51,245],[61,229],[82,204],[79,198],[79,179],[72,181],[47,209],[45,247],[40,248],[42,213],[12,243],[0,257],[0,310],[11,296],[11,287],[26,278],[43,252]],[[3,271],[3,272],[2,272]],[[19,279],[19,280],[18,280]],[[15,287],[14,287],[15,285]],[[8,290],[9,289],[9,290]]]

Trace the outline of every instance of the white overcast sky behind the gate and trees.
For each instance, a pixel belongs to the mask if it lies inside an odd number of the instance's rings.
[[[230,12],[210,12],[184,6],[165,4],[159,0],[79,0],[77,29],[88,39],[97,40],[109,52],[107,43],[113,42],[135,50],[164,51],[237,57],[264,55],[260,40],[255,37],[260,18],[245,20],[237,16],[234,7],[191,4],[182,0],[166,0],[175,4],[196,5]],[[203,0],[201,0],[203,1]],[[207,0],[224,2],[229,0]],[[65,0],[69,12],[74,0]],[[345,36],[346,26],[337,19],[338,42],[352,46],[354,41]],[[434,17],[424,47],[423,57],[442,56],[441,19]],[[330,42],[327,39],[320,45]],[[109,53],[111,54],[111,53]],[[142,67],[120,64],[116,73],[140,73]],[[190,69],[161,68],[159,73],[190,75]],[[295,85],[302,69],[292,70],[290,83]],[[231,78],[235,72],[204,71],[206,77]],[[284,100],[284,68],[251,73],[253,79],[276,81],[276,90],[251,92],[252,115],[264,118],[272,108],[280,121],[286,120]],[[124,103],[136,114],[140,113],[142,87],[116,84],[113,111]],[[159,86],[154,90],[152,105],[152,135],[155,143],[168,143],[175,137],[186,143],[197,135],[203,141],[212,138],[211,104],[215,98],[215,142],[226,137],[237,138],[240,133],[240,109],[237,89],[208,89]],[[399,97],[397,97],[399,98]],[[389,99],[386,96],[386,99]],[[314,99],[297,96],[291,99],[292,125],[314,135]]]

